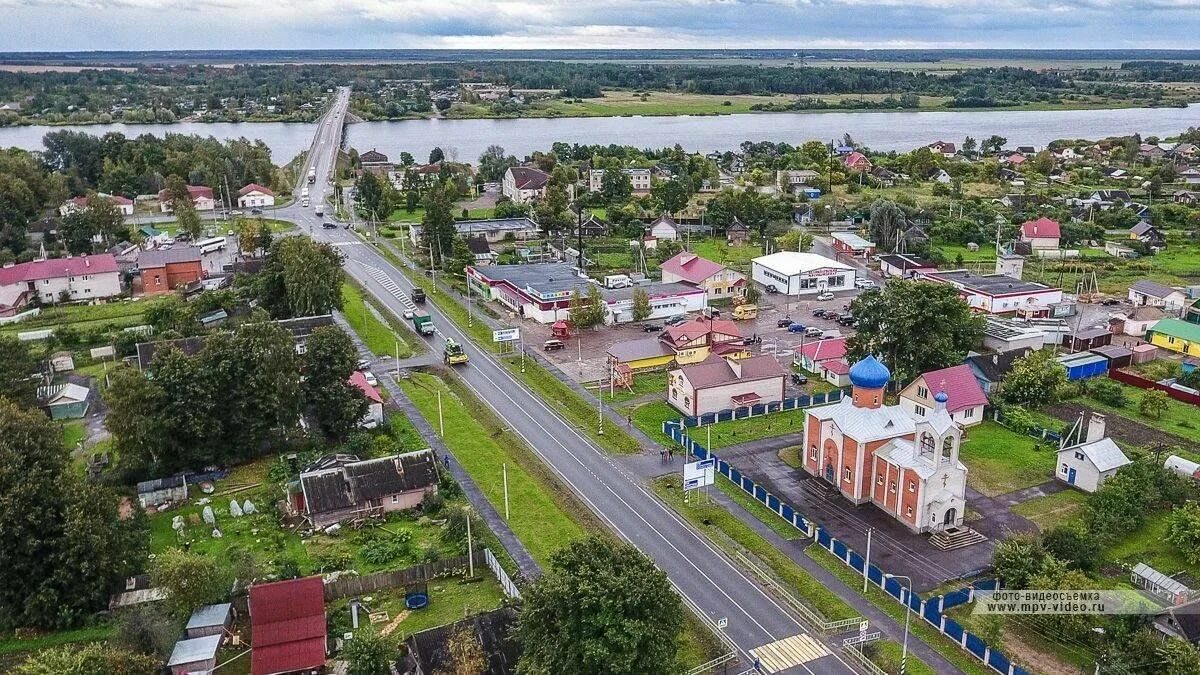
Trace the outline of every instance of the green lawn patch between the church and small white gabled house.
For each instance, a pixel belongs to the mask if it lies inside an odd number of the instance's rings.
[[[1036,444],[1032,437],[991,420],[971,426],[960,453],[970,470],[967,483],[995,497],[1054,479],[1054,450],[1038,450]]]

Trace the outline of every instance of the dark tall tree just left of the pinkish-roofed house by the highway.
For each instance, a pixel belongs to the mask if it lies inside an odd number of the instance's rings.
[[[341,328],[322,327],[308,336],[301,384],[304,411],[326,438],[346,440],[367,412],[362,392],[348,382],[356,360],[354,342]]]

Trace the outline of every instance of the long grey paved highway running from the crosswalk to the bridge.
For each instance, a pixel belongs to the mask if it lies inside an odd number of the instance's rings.
[[[338,90],[337,96],[318,126],[310,157],[318,175],[317,185],[311,189],[313,204],[323,203],[330,189],[328,178],[341,143],[349,89]],[[414,306],[407,294],[412,285],[403,274],[355,234],[342,227],[322,227],[322,219],[311,209],[294,205],[276,213],[277,217],[300,223],[313,238],[338,247],[346,256],[347,273],[389,310],[400,315]],[[818,635],[810,634],[780,601],[743,574],[703,534],[649,492],[637,477],[618,466],[509,375],[436,306],[427,304],[425,309],[439,331],[432,340],[452,338],[470,356],[470,363],[461,366],[458,375],[475,395],[614,532],[666,571],[680,595],[710,620],[727,620],[725,633],[744,663],[754,663],[757,657],[767,673],[854,673]],[[440,351],[439,344],[432,344],[431,348]]]

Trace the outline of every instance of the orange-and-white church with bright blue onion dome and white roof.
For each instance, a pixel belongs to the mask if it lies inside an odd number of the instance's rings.
[[[804,418],[804,471],[856,504],[872,503],[913,532],[962,525],[967,467],[962,426],[934,395],[929,414],[887,405],[892,371],[875,354],[850,368],[851,394]]]

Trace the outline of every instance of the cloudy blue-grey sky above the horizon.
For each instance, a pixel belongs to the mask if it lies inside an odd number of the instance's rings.
[[[1200,0],[0,0],[0,50],[1200,48]]]

